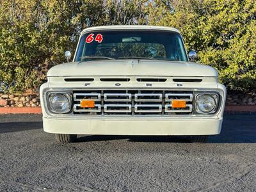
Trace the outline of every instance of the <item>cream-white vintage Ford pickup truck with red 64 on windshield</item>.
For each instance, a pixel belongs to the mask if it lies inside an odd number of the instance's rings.
[[[84,29],[73,61],[52,67],[40,87],[44,131],[63,143],[77,134],[182,135],[204,143],[220,134],[226,89],[214,68],[189,62],[195,58],[175,28]]]

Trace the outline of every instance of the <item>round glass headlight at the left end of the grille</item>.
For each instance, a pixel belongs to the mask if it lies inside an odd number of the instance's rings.
[[[70,111],[70,102],[68,97],[61,93],[51,95],[50,106],[52,111],[55,113],[67,113]]]

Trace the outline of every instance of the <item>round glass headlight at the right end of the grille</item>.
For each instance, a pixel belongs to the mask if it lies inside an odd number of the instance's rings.
[[[211,95],[198,95],[196,106],[203,113],[210,113],[215,107],[216,102]]]

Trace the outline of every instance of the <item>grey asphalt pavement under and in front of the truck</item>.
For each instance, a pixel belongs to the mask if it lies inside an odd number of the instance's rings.
[[[207,144],[81,136],[60,144],[40,115],[0,115],[0,191],[255,191],[256,114],[225,114]]]

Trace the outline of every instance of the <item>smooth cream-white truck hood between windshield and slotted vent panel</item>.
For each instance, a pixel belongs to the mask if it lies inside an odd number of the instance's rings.
[[[207,65],[186,61],[101,60],[56,65],[49,70],[47,76],[217,77],[218,72]]]

